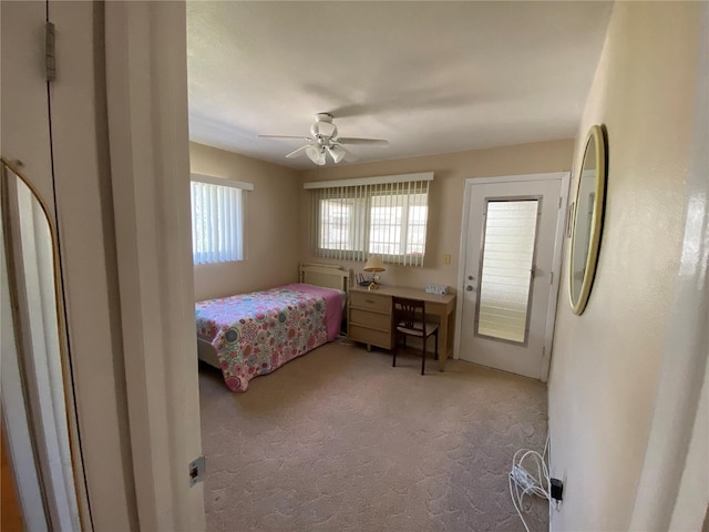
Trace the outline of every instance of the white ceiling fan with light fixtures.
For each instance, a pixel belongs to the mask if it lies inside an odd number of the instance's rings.
[[[309,144],[300,146],[298,150],[290,152],[286,157],[292,158],[304,153],[315,164],[320,166],[326,163],[326,155],[330,154],[332,161],[337,164],[345,160],[348,163],[357,161],[357,155],[342,147],[342,144],[381,146],[387,147],[389,141],[381,139],[352,139],[338,137],[337,125],[332,123],[332,115],[329,113],[318,113],[315,115],[315,124],[310,126],[310,136],[289,136],[289,135],[258,135],[265,139],[300,139],[309,141]]]

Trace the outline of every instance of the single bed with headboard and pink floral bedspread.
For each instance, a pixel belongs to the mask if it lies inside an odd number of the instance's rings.
[[[275,371],[340,334],[349,270],[302,264],[299,283],[195,305],[197,355],[222,370],[226,386]]]

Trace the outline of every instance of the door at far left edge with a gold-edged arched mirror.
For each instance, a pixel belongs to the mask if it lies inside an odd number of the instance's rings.
[[[42,69],[47,9],[45,2],[37,1],[0,6],[0,145],[1,155],[19,166],[47,202],[49,216],[54,216],[50,110]],[[16,243],[12,249],[6,248],[4,239],[0,243],[0,396],[9,463],[27,530],[79,530],[76,489],[82,487],[75,485],[74,472],[81,474],[82,462],[70,441],[73,397],[62,378],[60,352],[65,339],[58,329],[49,224],[16,174],[8,171],[2,178],[9,191],[2,232],[13,233]]]

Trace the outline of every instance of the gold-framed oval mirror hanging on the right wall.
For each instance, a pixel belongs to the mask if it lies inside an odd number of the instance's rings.
[[[572,246],[568,289],[574,314],[586,308],[596,273],[606,191],[606,142],[604,130],[594,125],[586,137],[572,206]]]

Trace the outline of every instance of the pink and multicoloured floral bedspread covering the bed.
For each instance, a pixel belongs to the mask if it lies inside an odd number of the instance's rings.
[[[196,318],[233,391],[328,339],[325,298],[284,287],[197,303]]]

